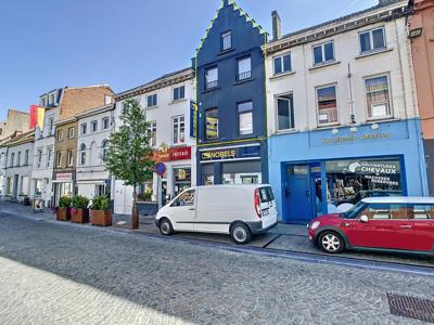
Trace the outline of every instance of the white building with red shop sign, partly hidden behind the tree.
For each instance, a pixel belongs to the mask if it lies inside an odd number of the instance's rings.
[[[150,122],[155,161],[166,167],[163,176],[154,173],[152,181],[140,186],[139,200],[146,202],[148,208],[151,207],[149,211],[141,209],[140,213],[154,213],[168,198],[195,185],[195,140],[190,136],[194,92],[193,72],[188,68],[116,95],[116,126],[120,125],[119,116],[125,101],[137,99]],[[130,213],[130,186],[116,180],[113,198],[115,213]]]

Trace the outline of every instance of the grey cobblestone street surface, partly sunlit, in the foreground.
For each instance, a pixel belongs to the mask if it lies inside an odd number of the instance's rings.
[[[52,223],[0,204],[1,324],[422,324],[434,281]]]

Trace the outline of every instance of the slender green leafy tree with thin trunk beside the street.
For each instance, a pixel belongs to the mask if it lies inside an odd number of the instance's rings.
[[[125,102],[120,120],[119,130],[110,135],[103,161],[113,176],[132,186],[131,227],[138,229],[137,186],[152,179],[152,135],[149,131],[150,123],[137,100]]]

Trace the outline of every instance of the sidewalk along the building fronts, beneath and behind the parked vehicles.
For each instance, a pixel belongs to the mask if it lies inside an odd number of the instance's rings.
[[[36,220],[46,220],[55,222],[55,214],[51,209],[44,209],[43,212],[31,213],[30,207],[25,207],[15,203],[4,203],[4,202],[0,202],[0,207],[2,210],[14,214],[23,213]],[[158,229],[155,226],[153,217],[140,217],[139,230],[130,230],[129,216],[115,214],[113,217],[113,225],[114,225],[113,229],[116,229],[118,231],[126,231],[131,234],[162,236],[159,234]],[[82,225],[77,224],[77,226],[82,226]],[[177,233],[174,235],[174,237],[208,242],[208,243],[218,243],[230,246],[239,246],[234,244],[228,235],[202,234],[202,233]],[[278,224],[276,227],[273,227],[266,234],[255,236],[252,243],[250,243],[246,246],[263,248],[265,250],[273,250],[273,251],[310,253],[310,255],[316,255],[318,257],[331,256],[316,248],[307,237],[306,226],[297,224]],[[333,255],[333,257],[434,268],[433,258],[417,256],[417,255],[346,251],[344,253]]]

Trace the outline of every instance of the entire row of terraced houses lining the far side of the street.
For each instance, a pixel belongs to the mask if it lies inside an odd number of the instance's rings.
[[[128,99],[166,165],[139,188],[142,213],[192,185],[270,183],[282,222],[370,191],[433,195],[434,1],[380,0],[286,35],[271,18],[269,35],[224,0],[189,67],[116,94],[42,94],[43,123],[1,140],[3,199],[105,194],[129,213],[132,190],[101,159]]]

